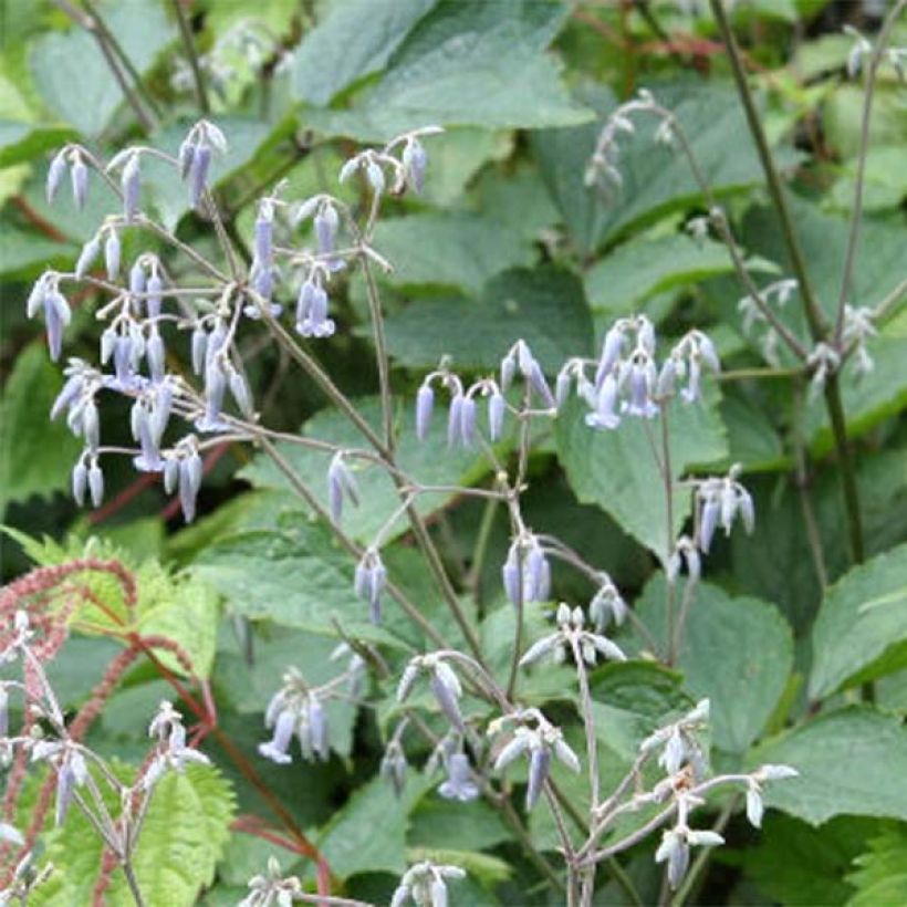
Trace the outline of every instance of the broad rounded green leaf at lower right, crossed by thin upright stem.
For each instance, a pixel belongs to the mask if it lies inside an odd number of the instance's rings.
[[[660,640],[666,636],[666,596],[664,576],[658,574],[636,605],[643,623]],[[682,588],[678,588],[677,602],[681,600]],[[793,667],[793,635],[774,605],[731,597],[711,583],[701,583],[677,667],[694,698],[711,700],[712,742],[742,753],[765,728],[784,692]]]

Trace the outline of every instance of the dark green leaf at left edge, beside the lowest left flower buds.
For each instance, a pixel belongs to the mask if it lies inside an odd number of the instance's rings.
[[[10,501],[69,488],[82,445],[65,420],[50,420],[62,384],[43,344],[32,343],[17,357],[0,403],[0,514]]]

